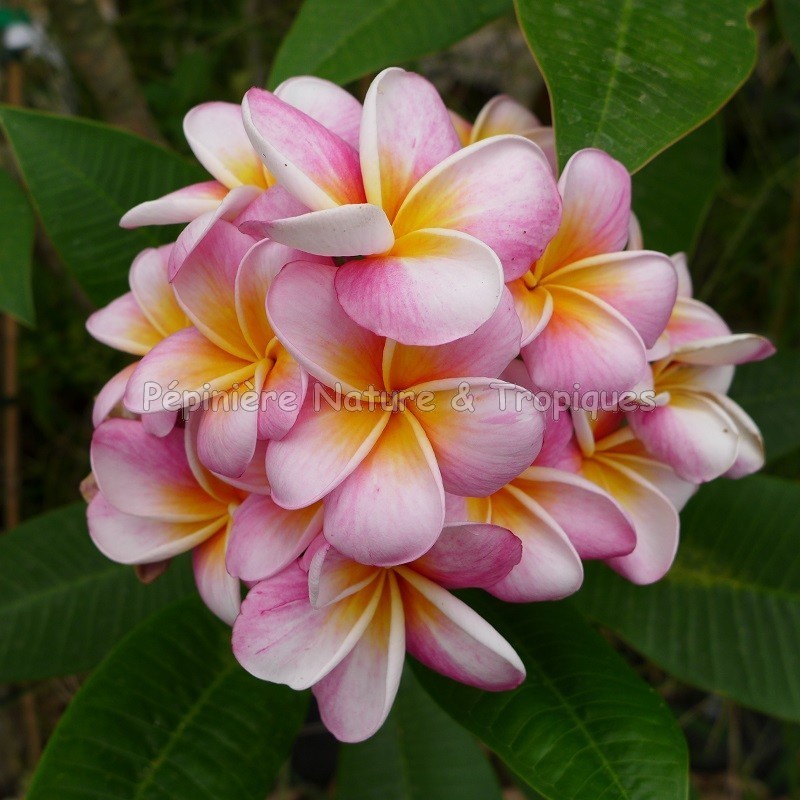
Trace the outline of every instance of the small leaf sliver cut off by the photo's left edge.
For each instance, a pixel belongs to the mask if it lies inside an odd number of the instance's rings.
[[[0,226],[0,311],[33,325],[31,255],[35,223],[25,193],[5,170],[0,170]]]

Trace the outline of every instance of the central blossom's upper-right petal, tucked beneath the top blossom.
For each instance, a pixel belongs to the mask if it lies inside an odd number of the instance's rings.
[[[386,343],[384,381],[407,389],[443,378],[475,375],[494,378],[519,354],[520,325],[508,291],[494,314],[475,333],[438,347]]]

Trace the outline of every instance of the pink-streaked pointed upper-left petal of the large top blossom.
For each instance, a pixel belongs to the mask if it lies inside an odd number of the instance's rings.
[[[366,200],[358,154],[324,125],[263,89],[247,92],[242,114],[267,169],[308,208]]]

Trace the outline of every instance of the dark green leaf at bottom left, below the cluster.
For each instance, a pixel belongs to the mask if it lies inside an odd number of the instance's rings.
[[[259,681],[196,597],[136,628],[73,699],[28,800],[263,800],[307,694]]]

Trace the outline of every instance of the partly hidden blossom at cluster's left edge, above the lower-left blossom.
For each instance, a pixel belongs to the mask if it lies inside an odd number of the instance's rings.
[[[131,291],[118,297],[86,320],[86,329],[98,341],[143,356],[166,337],[191,325],[167,279],[167,264],[172,245],[143,250],[131,264],[128,282]],[[92,411],[92,422],[99,425],[125,394],[136,364],[128,365],[100,390]],[[146,426],[151,433],[167,433],[175,414],[151,415]]]

